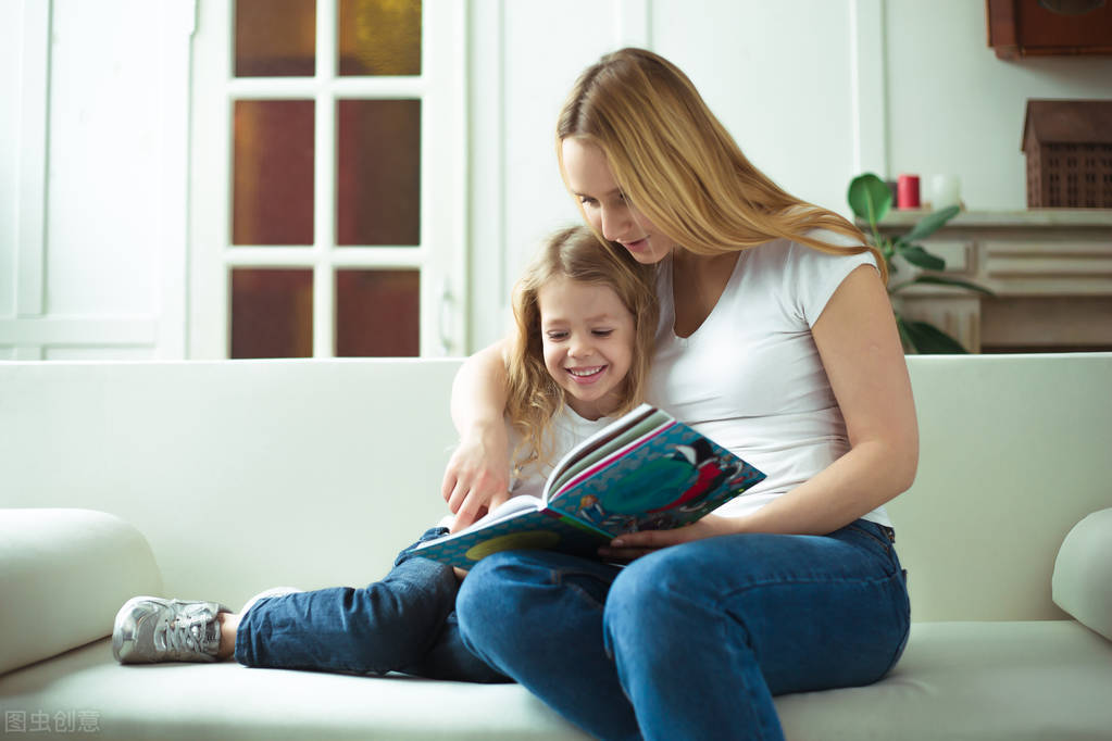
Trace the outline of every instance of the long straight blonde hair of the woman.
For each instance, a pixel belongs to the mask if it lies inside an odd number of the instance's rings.
[[[629,201],[691,252],[722,254],[787,238],[833,254],[871,251],[887,278],[860,229],[757,170],[687,76],[658,54],[627,48],[588,67],[556,127],[562,173],[568,138],[597,146]],[[814,229],[857,244],[824,242],[810,234]]]

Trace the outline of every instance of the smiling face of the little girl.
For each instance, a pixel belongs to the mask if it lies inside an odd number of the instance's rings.
[[[545,367],[585,419],[620,401],[633,363],[634,317],[609,286],[555,278],[537,292]]]

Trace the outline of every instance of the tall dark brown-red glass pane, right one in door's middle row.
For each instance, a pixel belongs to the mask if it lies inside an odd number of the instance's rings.
[[[420,101],[338,102],[337,244],[420,243]]]

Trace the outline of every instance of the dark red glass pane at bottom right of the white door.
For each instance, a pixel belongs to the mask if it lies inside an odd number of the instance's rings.
[[[419,298],[417,270],[338,270],[336,356],[420,354]]]

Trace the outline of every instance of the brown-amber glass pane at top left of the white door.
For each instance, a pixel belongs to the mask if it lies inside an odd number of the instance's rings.
[[[312,77],[316,0],[236,0],[236,77]]]

